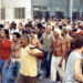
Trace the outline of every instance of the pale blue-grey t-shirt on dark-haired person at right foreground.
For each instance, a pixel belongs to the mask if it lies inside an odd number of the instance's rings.
[[[63,83],[74,83],[75,81],[75,71],[74,71],[74,62],[79,59],[83,59],[76,51],[71,52],[68,63],[66,63],[66,70],[64,73]]]

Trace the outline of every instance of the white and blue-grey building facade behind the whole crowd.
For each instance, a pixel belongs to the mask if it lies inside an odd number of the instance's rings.
[[[72,7],[71,2],[72,1]],[[71,10],[72,9],[72,10]],[[83,17],[83,0],[0,0],[0,20]]]

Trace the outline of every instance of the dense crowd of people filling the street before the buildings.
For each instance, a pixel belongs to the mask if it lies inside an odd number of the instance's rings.
[[[69,18],[0,24],[1,83],[83,82],[83,21]]]

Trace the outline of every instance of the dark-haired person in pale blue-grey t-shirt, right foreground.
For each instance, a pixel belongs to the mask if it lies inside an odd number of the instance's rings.
[[[79,83],[83,82],[83,74],[82,74],[82,52],[83,52],[83,37],[76,38],[74,42],[75,49],[71,52],[65,74],[63,77],[63,83]]]

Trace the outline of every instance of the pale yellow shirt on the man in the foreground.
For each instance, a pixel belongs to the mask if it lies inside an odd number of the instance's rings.
[[[30,55],[28,53],[28,50],[30,50],[30,45],[27,48],[21,49],[21,69],[20,73],[25,76],[37,76],[38,75],[38,69],[37,69],[37,58],[33,55]],[[41,51],[38,49],[32,50],[33,53],[40,53]]]

